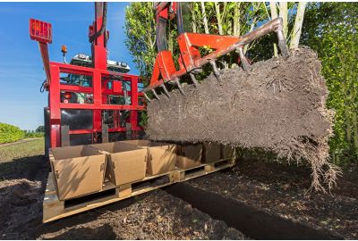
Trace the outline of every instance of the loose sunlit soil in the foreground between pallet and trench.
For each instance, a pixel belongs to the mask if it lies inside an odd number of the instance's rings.
[[[45,239],[243,239],[223,221],[157,190],[122,209],[97,210],[96,219],[46,231]],[[66,221],[66,220],[64,220]],[[103,232],[106,230],[106,232]],[[103,236],[104,235],[104,236]]]

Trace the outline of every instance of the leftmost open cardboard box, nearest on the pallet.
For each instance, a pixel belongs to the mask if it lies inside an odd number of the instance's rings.
[[[86,145],[50,149],[58,198],[67,200],[102,190],[106,154]]]

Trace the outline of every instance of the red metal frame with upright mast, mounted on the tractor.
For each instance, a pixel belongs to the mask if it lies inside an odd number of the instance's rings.
[[[96,34],[101,29],[103,21],[103,3],[95,3],[96,20],[90,26],[90,35]],[[132,74],[124,74],[113,71],[107,71],[107,41],[105,31],[100,34],[91,44],[92,46],[92,62],[93,68],[82,67],[61,62],[50,62],[48,57],[47,44],[52,42],[51,24],[43,21],[30,19],[30,38],[38,41],[40,53],[44,63],[44,69],[47,75],[45,88],[48,93],[49,107],[49,125],[50,125],[50,147],[61,146],[61,110],[92,110],[93,111],[93,128],[92,129],[76,129],[69,130],[69,135],[76,134],[97,134],[102,132],[102,111],[130,111],[129,123],[131,123],[132,133],[136,134],[142,128],[138,126],[138,111],[144,109],[139,104],[139,98],[143,95],[138,92],[139,76]],[[85,75],[92,77],[92,87],[71,86],[60,83],[61,73],[71,73],[77,75]],[[108,95],[123,95],[122,87],[117,85],[111,89],[107,87],[107,81],[103,77],[121,77],[124,81],[131,82],[130,105],[107,104]],[[93,94],[93,104],[71,104],[61,102],[61,92],[70,91],[73,93]],[[115,121],[116,123],[116,121]],[[108,129],[108,132],[124,132],[125,127],[115,126]],[[94,142],[97,142],[94,139]]]

